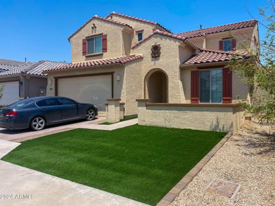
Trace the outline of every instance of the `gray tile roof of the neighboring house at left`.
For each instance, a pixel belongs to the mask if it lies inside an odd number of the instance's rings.
[[[17,75],[21,73],[43,76],[43,71],[56,66],[65,65],[65,62],[54,62],[49,60],[41,60],[39,62],[27,62],[24,65],[13,67],[8,71],[0,72],[0,76]]]

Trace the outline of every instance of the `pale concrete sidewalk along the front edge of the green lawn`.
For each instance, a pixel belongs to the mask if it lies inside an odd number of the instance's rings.
[[[0,158],[17,146],[0,139]],[[144,205],[1,160],[0,185],[0,205]]]

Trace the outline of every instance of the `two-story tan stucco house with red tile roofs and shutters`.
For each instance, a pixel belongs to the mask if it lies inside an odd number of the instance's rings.
[[[94,16],[69,36],[72,63],[47,69],[47,95],[93,102],[102,111],[107,99],[120,99],[125,115],[137,114],[137,99],[233,104],[237,96],[246,100],[249,88],[225,65],[233,54],[249,58],[239,44],[259,49],[258,39],[256,20],[173,34],[116,12]]]

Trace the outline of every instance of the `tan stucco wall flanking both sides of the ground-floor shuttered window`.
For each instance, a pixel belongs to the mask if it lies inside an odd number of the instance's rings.
[[[181,69],[181,82],[184,89],[185,100],[184,103],[190,103],[191,92],[191,71],[197,70],[196,68]],[[243,81],[236,72],[232,71],[232,102],[239,102],[238,96],[241,100],[247,100],[249,87],[243,84]]]

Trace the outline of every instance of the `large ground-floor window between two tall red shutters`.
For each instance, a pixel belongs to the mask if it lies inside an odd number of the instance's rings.
[[[222,69],[199,71],[199,102],[221,103],[223,99],[222,78]]]

